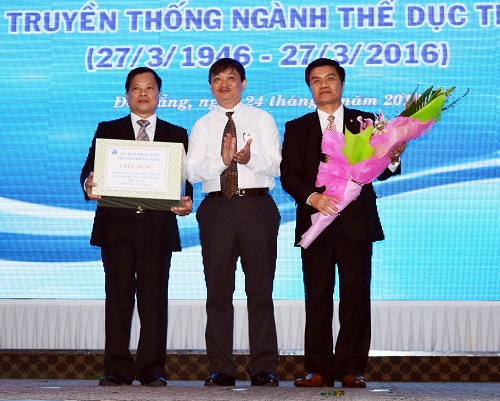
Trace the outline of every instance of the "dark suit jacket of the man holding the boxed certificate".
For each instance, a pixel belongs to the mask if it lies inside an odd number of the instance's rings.
[[[94,171],[96,138],[135,140],[130,115],[118,120],[101,122],[97,126],[87,160],[82,168],[80,183],[83,184]],[[187,151],[188,135],[184,128],[157,119],[154,140],[157,142],[180,142]],[[186,182],[186,195],[193,197],[193,187]],[[88,197],[85,193],[85,198]],[[180,236],[176,215],[170,211],[151,210],[152,237],[166,251],[180,251]],[[128,240],[132,234],[136,210],[128,208],[97,206],[90,243],[96,246],[117,245]]]

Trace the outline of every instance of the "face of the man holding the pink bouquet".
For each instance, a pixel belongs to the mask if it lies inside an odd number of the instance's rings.
[[[309,87],[318,109],[333,112],[340,107],[344,83],[332,66],[313,68],[309,74]]]

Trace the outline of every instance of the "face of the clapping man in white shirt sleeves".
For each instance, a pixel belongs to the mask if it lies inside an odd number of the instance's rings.
[[[235,70],[225,70],[212,75],[210,91],[217,104],[225,109],[231,109],[241,101],[241,95],[247,81],[241,81],[240,74]]]

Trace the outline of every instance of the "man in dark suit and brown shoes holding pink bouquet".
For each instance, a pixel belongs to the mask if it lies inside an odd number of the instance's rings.
[[[360,123],[375,116],[348,109],[341,102],[345,71],[334,60],[318,59],[306,68],[306,83],[317,111],[285,125],[281,162],[281,184],[297,204],[296,244],[311,226],[311,215],[332,215],[338,199],[316,187],[318,166],[325,161],[321,152],[322,132],[329,123],[343,132],[359,133]],[[332,117],[333,116],[333,117]],[[330,129],[332,126],[330,125]],[[379,177],[400,173],[399,156],[405,144],[391,149],[392,164]],[[370,349],[370,280],[374,241],[384,238],[376,194],[364,185],[358,198],[307,248],[301,248],[304,275],[306,328],[306,377],[295,380],[297,387],[366,387],[363,372]],[[340,332],[333,349],[332,318],[335,265],[340,281]]]

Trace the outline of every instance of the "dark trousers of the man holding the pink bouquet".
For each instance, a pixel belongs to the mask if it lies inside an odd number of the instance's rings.
[[[334,221],[302,249],[306,329],[305,365],[327,380],[363,374],[371,339],[370,281],[373,244],[349,239]],[[333,351],[335,265],[338,268],[340,331]]]

